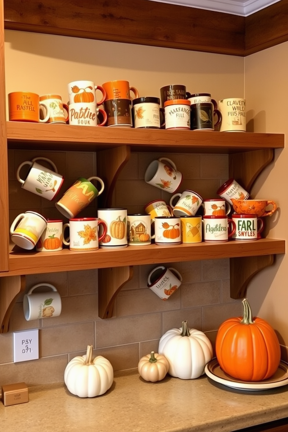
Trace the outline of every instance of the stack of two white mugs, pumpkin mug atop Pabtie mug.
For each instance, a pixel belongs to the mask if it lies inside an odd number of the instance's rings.
[[[102,94],[97,102],[96,90]],[[106,92],[93,81],[81,80],[68,84],[69,124],[78,126],[104,126],[107,121],[106,112],[98,108],[106,98]],[[101,114],[98,118],[98,114]]]

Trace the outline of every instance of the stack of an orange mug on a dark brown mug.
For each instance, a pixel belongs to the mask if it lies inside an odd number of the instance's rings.
[[[105,91],[104,110],[107,114],[108,127],[132,127],[132,98],[139,97],[136,87],[130,86],[128,81],[114,80],[102,84]]]

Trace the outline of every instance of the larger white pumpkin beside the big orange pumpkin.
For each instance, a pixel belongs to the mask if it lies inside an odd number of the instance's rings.
[[[169,362],[168,373],[182,379],[198,378],[203,375],[206,363],[213,356],[210,340],[200,330],[190,329],[188,322],[182,327],[168,330],[159,341],[159,354]]]

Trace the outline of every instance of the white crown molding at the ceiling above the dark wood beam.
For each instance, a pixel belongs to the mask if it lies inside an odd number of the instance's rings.
[[[150,0],[159,3],[170,3],[178,6],[195,7],[215,12],[231,13],[233,15],[248,16],[264,9],[279,0]]]

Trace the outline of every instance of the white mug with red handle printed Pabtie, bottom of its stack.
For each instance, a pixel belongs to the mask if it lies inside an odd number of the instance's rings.
[[[101,120],[98,120],[98,114]],[[92,102],[78,102],[69,105],[69,124],[78,126],[104,126],[107,121],[106,112],[97,108]]]

